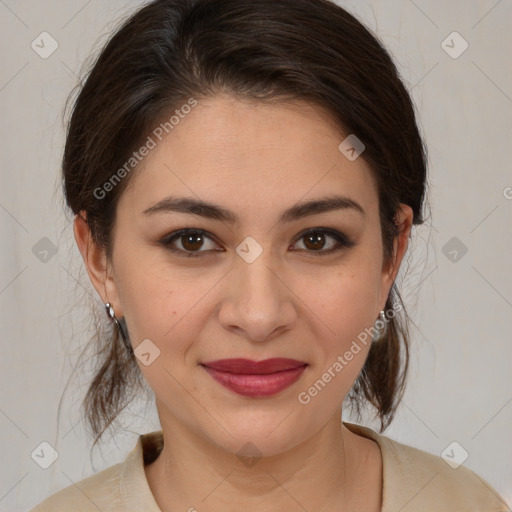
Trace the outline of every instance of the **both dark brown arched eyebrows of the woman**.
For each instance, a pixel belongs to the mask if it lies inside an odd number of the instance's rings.
[[[359,212],[363,217],[366,215],[364,208],[357,201],[346,196],[335,195],[295,204],[281,214],[279,222],[292,222],[310,215],[333,210],[350,210]],[[155,214],[169,212],[199,215],[207,219],[220,220],[231,224],[239,222],[238,216],[231,210],[189,197],[166,197],[150,208],[147,208],[142,213]]]

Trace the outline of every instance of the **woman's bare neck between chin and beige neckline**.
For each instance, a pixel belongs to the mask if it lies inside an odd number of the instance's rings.
[[[368,482],[363,475],[369,471],[369,460],[374,460],[370,457],[374,443],[342,426],[340,413],[313,438],[261,458],[228,453],[176,418],[161,418],[164,448],[145,468],[153,495],[164,512],[348,507],[368,491],[361,478]]]

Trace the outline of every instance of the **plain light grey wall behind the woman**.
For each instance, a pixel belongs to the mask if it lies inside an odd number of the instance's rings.
[[[385,434],[439,455],[456,441],[464,464],[512,504],[512,3],[339,3],[395,56],[429,148],[432,218],[413,233],[401,271],[412,369]],[[89,308],[101,313],[101,304],[59,185],[65,98],[91,50],[138,5],[0,0],[1,510],[28,510],[124,460],[139,433],[158,428],[141,399],[122,418],[125,430],[89,456],[79,415],[87,365],[72,372]],[[42,32],[58,43],[47,58],[55,43]],[[59,454],[46,470],[31,457],[43,441]]]

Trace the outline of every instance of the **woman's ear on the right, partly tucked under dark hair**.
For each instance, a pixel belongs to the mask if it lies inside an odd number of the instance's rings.
[[[387,265],[384,265],[382,269],[382,295],[380,297],[381,310],[386,307],[386,300],[398,271],[400,270],[402,259],[407,251],[413,215],[412,208],[409,205],[400,203],[394,217],[395,224],[398,225],[398,236],[393,241],[393,254],[391,256],[391,260]]]

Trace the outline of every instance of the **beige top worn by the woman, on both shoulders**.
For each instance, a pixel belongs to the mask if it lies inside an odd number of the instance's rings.
[[[382,512],[511,512],[473,471],[373,430],[343,424],[375,440],[382,453]],[[162,431],[140,435],[125,461],[51,495],[30,512],[161,512],[144,471],[163,447]]]

